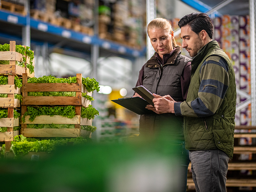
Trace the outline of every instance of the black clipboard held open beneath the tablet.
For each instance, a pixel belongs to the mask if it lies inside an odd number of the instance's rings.
[[[121,105],[125,108],[127,108],[130,111],[133,111],[134,113],[137,114],[152,114],[155,113],[152,110],[146,109],[146,105],[149,105],[148,101],[144,100],[143,98],[140,97],[124,97],[124,98],[119,98],[116,100],[111,100],[118,105]]]

